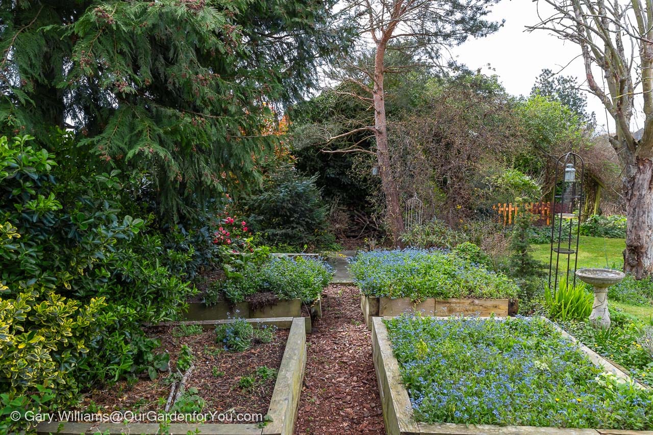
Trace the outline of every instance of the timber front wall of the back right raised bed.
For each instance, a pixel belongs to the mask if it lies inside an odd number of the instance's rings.
[[[391,299],[360,294],[360,310],[363,312],[365,324],[372,329],[372,318],[376,316],[393,317],[403,313],[421,313],[422,315],[443,317],[447,315],[478,315],[498,317],[516,315],[517,299],[485,299],[485,298],[426,298],[415,303],[410,298]]]

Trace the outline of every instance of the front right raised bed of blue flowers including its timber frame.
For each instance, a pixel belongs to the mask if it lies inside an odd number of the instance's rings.
[[[547,319],[374,317],[372,355],[391,435],[653,433],[653,391]]]

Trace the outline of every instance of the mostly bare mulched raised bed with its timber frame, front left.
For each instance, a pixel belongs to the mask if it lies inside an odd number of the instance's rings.
[[[216,325],[234,324],[236,321],[215,321],[202,323],[185,323],[185,327],[177,327],[177,330],[187,330],[187,325],[202,325],[204,332],[195,330],[194,335],[180,337],[177,345],[187,344],[188,347],[197,353],[193,367],[187,369],[183,374],[185,379],[177,379],[180,384],[184,383],[185,389],[180,396],[165,396],[166,387],[171,393],[175,387],[164,385],[158,381],[138,381],[131,390],[133,393],[119,391],[119,385],[105,391],[102,394],[92,396],[97,402],[93,402],[93,413],[97,408],[104,408],[104,415],[111,415],[114,410],[129,410],[133,415],[159,415],[169,413],[168,421],[172,423],[132,423],[130,421],[102,422],[102,423],[78,423],[78,422],[52,422],[42,423],[37,427],[39,434],[68,434],[78,435],[86,433],[101,433],[103,435],[118,435],[125,433],[132,434],[155,434],[166,430],[170,434],[187,434],[189,431],[201,434],[259,434],[277,435],[293,434],[295,426],[297,407],[306,366],[306,323],[304,319],[292,319],[288,332],[278,330],[274,332],[276,338],[269,344],[261,344],[247,350],[227,352],[219,351],[222,346],[234,346],[234,342],[228,337],[232,332],[217,334],[219,344],[215,344],[213,332]],[[267,328],[286,325],[287,319],[257,320],[237,323],[242,325],[253,325],[259,328]],[[196,328],[197,329],[197,328]],[[210,330],[207,330],[210,329]],[[251,330],[251,329],[250,329]],[[229,329],[232,331],[232,329]],[[211,335],[212,337],[208,337]],[[285,338],[287,337],[287,340]],[[223,341],[224,340],[224,341]],[[283,343],[285,341],[285,344]],[[174,347],[174,338],[167,334],[162,338],[163,346],[171,351]],[[211,346],[209,342],[214,344]],[[223,344],[224,343],[224,344]],[[232,347],[234,349],[234,347]],[[181,354],[180,354],[181,355]],[[171,357],[171,366],[178,366],[180,359],[176,355]],[[174,363],[174,364],[173,364]],[[276,374],[276,381],[274,381]],[[142,384],[142,385],[141,385]],[[274,387],[272,387],[274,385]],[[196,390],[194,390],[196,389]],[[159,391],[160,390],[160,391]],[[204,417],[206,421],[190,423],[174,423],[180,421],[180,415],[187,419],[191,415],[193,406],[185,404],[184,398],[193,398],[192,395],[200,396],[206,404],[204,409],[199,411],[205,416],[208,413],[229,413],[232,410],[236,413],[264,413],[265,421],[261,423],[221,423],[221,420],[211,421],[212,417]],[[170,400],[172,396],[173,400]],[[143,400],[145,398],[146,400]],[[154,398],[154,400],[151,400]],[[158,398],[158,399],[157,399]],[[135,399],[135,401],[131,400]],[[140,399],[140,400],[138,400]],[[150,399],[150,400],[148,400]],[[197,403],[193,398],[191,403]],[[168,402],[172,404],[168,407]],[[87,411],[90,402],[86,402]],[[269,405],[268,405],[269,404]],[[165,411],[165,408],[168,411]],[[161,408],[161,409],[159,409]],[[95,414],[97,415],[97,414]],[[124,416],[124,414],[121,414]],[[132,415],[132,414],[129,414]],[[109,418],[109,417],[107,417]],[[133,420],[142,421],[143,417],[134,417]],[[150,417],[147,417],[150,419]],[[176,420],[175,420],[176,419]],[[88,421],[88,420],[87,420]],[[229,421],[223,418],[222,421]]]

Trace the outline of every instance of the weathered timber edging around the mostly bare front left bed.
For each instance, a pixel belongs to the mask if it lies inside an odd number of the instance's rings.
[[[215,325],[231,323],[226,321],[200,321],[180,322],[187,325],[202,325],[204,329],[211,329]],[[189,431],[205,435],[293,435],[299,398],[304,383],[306,370],[306,321],[303,317],[278,317],[275,319],[247,319],[255,325],[274,325],[279,329],[290,329],[283,359],[274,384],[272,399],[268,407],[268,415],[272,421],[265,427],[256,424],[225,424],[225,423],[173,423],[167,425],[170,434],[187,434]],[[37,434],[80,435],[96,434],[123,435],[123,434],[157,434],[161,426],[158,423],[68,423],[58,422],[41,423],[37,427]]]

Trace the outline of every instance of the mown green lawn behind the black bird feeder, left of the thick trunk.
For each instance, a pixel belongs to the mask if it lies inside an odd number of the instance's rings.
[[[566,245],[565,245],[566,246]],[[549,265],[550,244],[532,245],[533,256],[539,261]],[[621,269],[624,264],[622,251],[626,248],[626,241],[622,238],[603,238],[581,236],[578,250],[578,267],[609,267]],[[553,260],[556,253],[553,253]],[[560,262],[565,255],[560,255]],[[573,264],[573,257],[572,257]],[[573,265],[571,266],[573,268]]]

